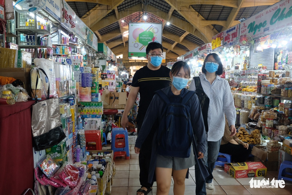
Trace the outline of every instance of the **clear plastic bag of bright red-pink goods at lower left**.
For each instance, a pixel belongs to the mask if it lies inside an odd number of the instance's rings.
[[[75,187],[79,179],[79,171],[72,164],[66,162],[61,168],[59,177],[70,187]]]

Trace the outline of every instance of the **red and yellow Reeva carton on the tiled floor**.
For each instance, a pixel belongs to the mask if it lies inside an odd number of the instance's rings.
[[[267,168],[261,162],[226,163],[224,171],[234,178],[267,176]]]

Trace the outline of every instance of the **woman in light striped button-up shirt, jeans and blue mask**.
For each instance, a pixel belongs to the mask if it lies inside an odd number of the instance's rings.
[[[206,56],[202,67],[202,72],[204,74],[199,76],[201,87],[210,100],[207,119],[209,130],[206,140],[207,152],[203,158],[206,166],[208,166],[209,176],[206,178],[206,181],[203,181],[203,178],[198,172],[198,168],[195,166],[196,194],[206,194],[206,188],[211,190],[214,189],[212,184],[212,172],[217,160],[221,138],[224,134],[224,115],[226,115],[230,125],[230,136],[234,136],[236,133],[236,111],[234,107],[234,100],[229,83],[225,79],[219,77],[219,75],[223,73],[223,65],[220,57],[216,53],[210,53]],[[189,90],[196,91],[196,87],[198,87],[198,85],[195,84],[194,78],[190,84]],[[204,184],[202,184],[203,182]],[[206,188],[201,188],[201,186],[206,186]]]

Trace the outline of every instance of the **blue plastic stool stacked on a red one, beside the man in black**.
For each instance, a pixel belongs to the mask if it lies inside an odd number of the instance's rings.
[[[125,137],[125,147],[124,148],[116,148],[115,141],[116,136],[124,135]],[[128,142],[128,131],[124,130],[123,128],[113,128],[111,132],[111,149],[114,153],[114,159],[116,156],[125,156],[125,159],[130,159],[130,152],[129,152],[129,142]]]

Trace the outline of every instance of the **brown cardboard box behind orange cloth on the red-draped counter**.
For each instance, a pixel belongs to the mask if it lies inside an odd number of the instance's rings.
[[[1,64],[1,62],[0,62]],[[0,76],[13,77],[14,79],[20,79],[24,83],[24,87],[27,90],[29,96],[30,93],[30,68],[0,68]]]

